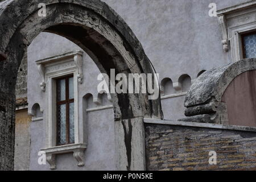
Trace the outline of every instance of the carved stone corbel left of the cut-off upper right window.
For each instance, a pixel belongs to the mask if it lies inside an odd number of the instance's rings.
[[[228,29],[226,27],[226,17],[224,14],[218,15],[218,24],[221,27],[221,32],[222,32],[222,46],[225,52],[229,51],[229,46],[228,46]]]

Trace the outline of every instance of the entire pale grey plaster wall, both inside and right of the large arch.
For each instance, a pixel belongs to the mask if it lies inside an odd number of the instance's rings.
[[[217,18],[208,15],[211,0],[104,0],[131,27],[152,61],[159,80],[171,78],[178,82],[187,74],[194,80],[205,69],[229,63],[230,52],[224,52],[221,30]],[[242,0],[216,0],[217,9],[236,5]],[[38,103],[46,108],[46,93],[40,90],[40,75],[35,61],[80,49],[60,36],[41,33],[28,47],[28,104]],[[91,93],[97,97],[97,75],[100,73],[88,55],[84,55],[84,82],[79,86],[79,105],[82,97]],[[162,100],[165,119],[184,117],[184,96]],[[80,107],[80,121],[84,107]],[[45,117],[45,116],[44,116]],[[90,112],[88,123],[88,149],[85,167],[76,166],[72,154],[57,156],[57,169],[115,169],[113,110]],[[30,169],[49,169],[38,165],[38,151],[45,147],[45,121],[32,122]]]

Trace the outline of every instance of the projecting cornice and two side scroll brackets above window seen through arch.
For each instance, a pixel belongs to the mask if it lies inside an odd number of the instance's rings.
[[[42,78],[42,81],[40,82],[41,90],[43,92],[46,91],[46,73],[47,73],[46,64],[51,64],[51,63],[54,63],[54,62],[60,61],[60,60],[68,60],[71,58],[73,59],[75,65],[77,67],[77,71],[78,71],[77,81],[80,84],[82,84],[82,80],[83,80],[82,55],[83,55],[82,51],[73,51],[73,52],[64,53],[62,55],[48,57],[47,59],[42,59],[42,60],[36,61],[36,64],[38,65],[38,71]]]

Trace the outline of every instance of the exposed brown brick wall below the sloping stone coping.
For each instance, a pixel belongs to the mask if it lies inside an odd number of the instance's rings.
[[[148,170],[256,170],[255,151],[254,132],[146,124]]]

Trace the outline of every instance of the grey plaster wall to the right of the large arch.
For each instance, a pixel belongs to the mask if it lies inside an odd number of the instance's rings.
[[[160,73],[159,80],[181,75],[192,80],[202,70],[230,63],[231,55],[222,49],[221,29],[217,17],[210,17],[209,3],[217,10],[250,0],[103,0],[133,30],[146,55]],[[176,104],[181,98],[162,101],[165,119],[184,117],[185,107]],[[172,113],[174,111],[174,113]]]

